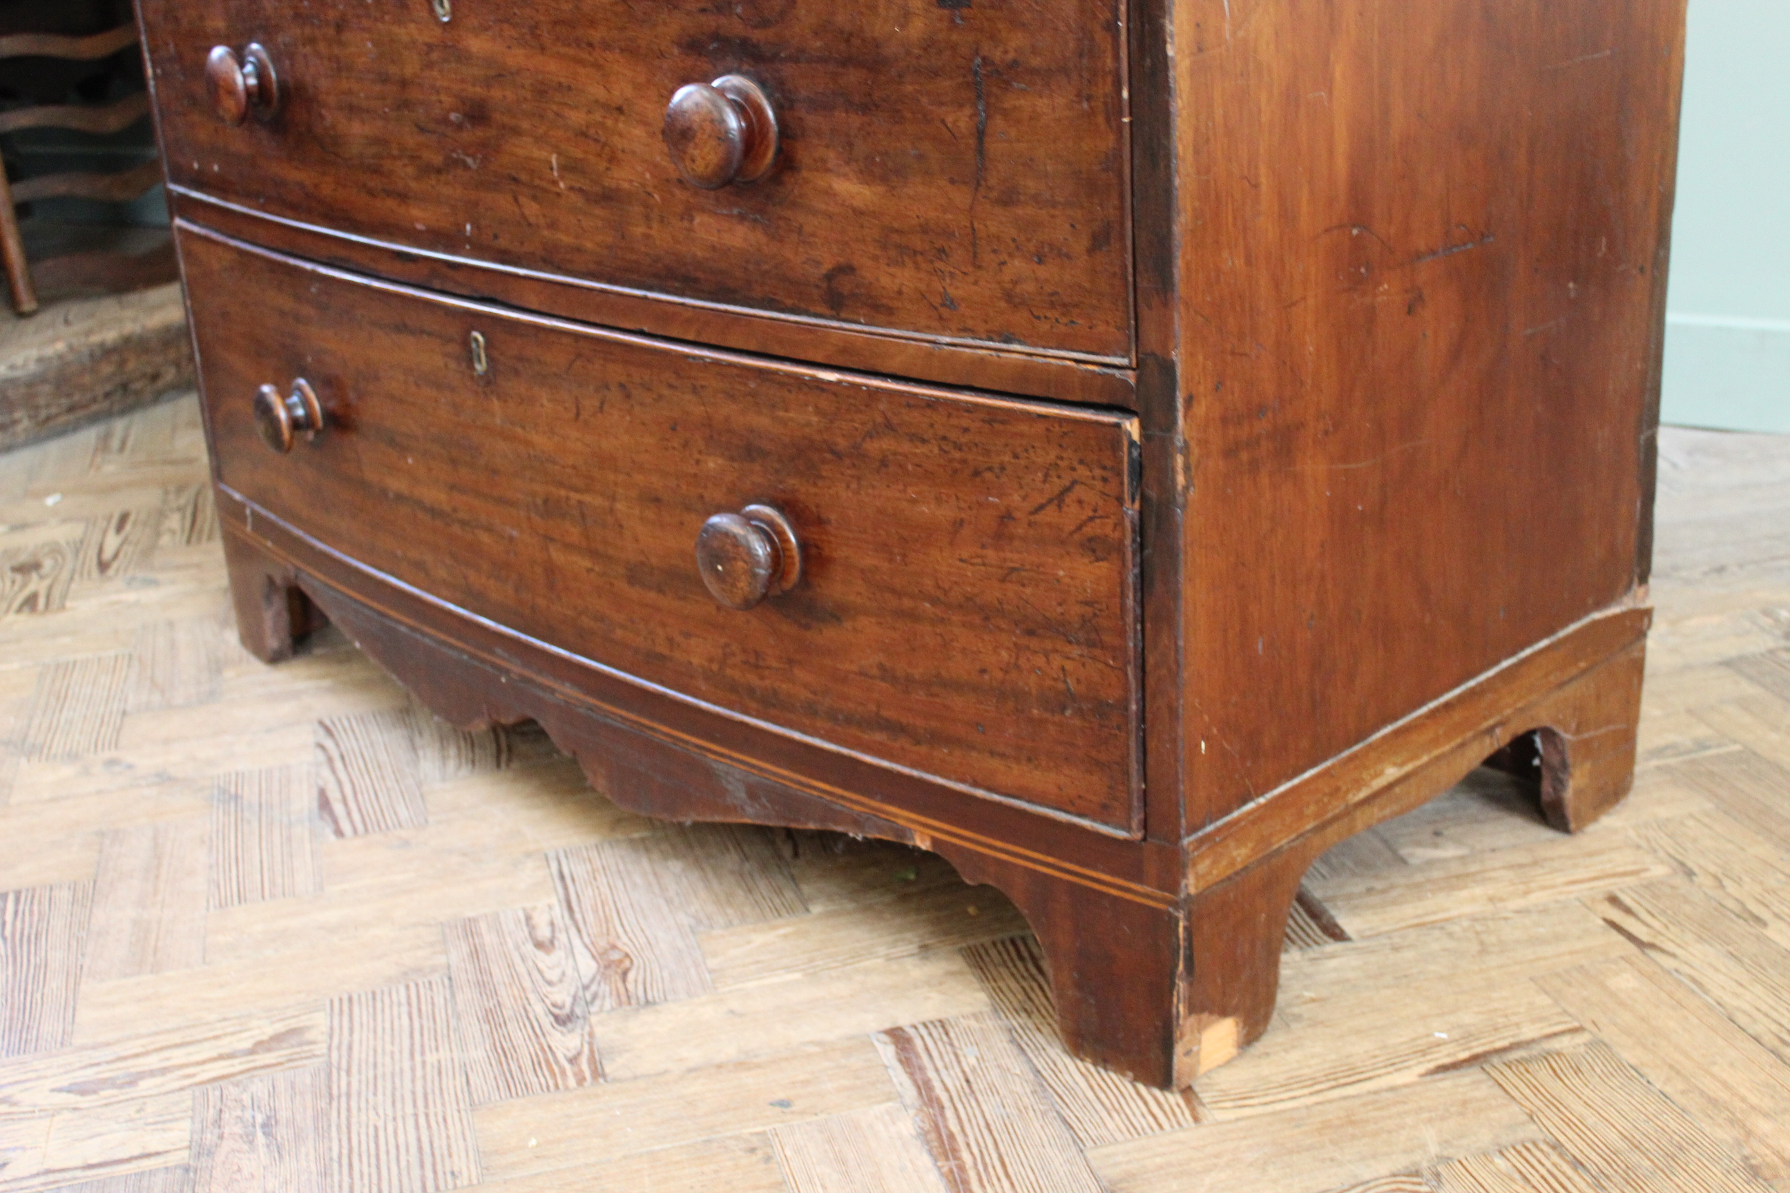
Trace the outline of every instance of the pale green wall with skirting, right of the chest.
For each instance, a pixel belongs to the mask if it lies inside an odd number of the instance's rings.
[[[1659,419],[1790,431],[1790,0],[1690,0]]]

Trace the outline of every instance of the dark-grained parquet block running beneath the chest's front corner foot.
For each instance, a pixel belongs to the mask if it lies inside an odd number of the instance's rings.
[[[988,1000],[1006,1021],[1026,1059],[1083,1148],[1192,1127],[1198,1120],[1187,1098],[1088,1064],[1063,1050],[1056,1030],[1044,953],[1029,935],[1015,935],[963,950]]]

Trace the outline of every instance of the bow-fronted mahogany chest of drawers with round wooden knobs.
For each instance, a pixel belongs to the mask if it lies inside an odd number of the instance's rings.
[[[943,853],[1065,1043],[1634,760],[1681,0],[140,0],[243,642]]]

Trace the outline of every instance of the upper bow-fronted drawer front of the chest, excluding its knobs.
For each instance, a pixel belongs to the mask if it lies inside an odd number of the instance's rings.
[[[1115,0],[141,0],[172,182],[630,290],[963,342],[1131,352]],[[224,45],[279,107],[226,125]],[[682,181],[666,107],[739,73],[771,172]]]

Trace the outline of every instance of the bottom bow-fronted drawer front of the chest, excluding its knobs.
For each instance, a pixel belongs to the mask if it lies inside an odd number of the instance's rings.
[[[183,229],[218,478],[494,622],[861,755],[1137,830],[1135,422],[501,313]],[[478,334],[474,365],[473,336]],[[277,454],[261,385],[326,427]],[[711,515],[800,580],[711,596]]]

